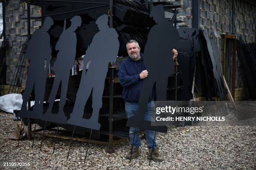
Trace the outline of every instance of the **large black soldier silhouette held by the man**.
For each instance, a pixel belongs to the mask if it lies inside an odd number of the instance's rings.
[[[130,117],[127,121],[129,127],[140,127],[144,130],[154,130],[165,132],[166,128],[151,126],[150,121],[144,120],[147,110],[147,102],[156,83],[156,100],[166,101],[166,88],[168,77],[174,74],[174,61],[172,60],[172,49],[179,45],[179,33],[173,26],[177,12],[174,13],[172,20],[164,18],[164,8],[157,5],[152,8],[150,16],[156,22],[149,34],[144,50],[144,65],[148,70],[148,77],[143,80],[140,98],[138,101],[138,114]],[[154,115],[151,115],[154,121]]]

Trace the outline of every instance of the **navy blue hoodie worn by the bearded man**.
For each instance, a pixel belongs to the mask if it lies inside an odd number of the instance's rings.
[[[118,79],[120,84],[123,86],[122,96],[126,102],[138,102],[141,94],[142,82],[140,73],[143,70],[146,70],[146,67],[143,65],[143,54],[141,54],[139,60],[133,60],[130,56],[127,57],[127,60],[124,60],[118,72]],[[155,86],[152,88],[149,100],[154,100]]]

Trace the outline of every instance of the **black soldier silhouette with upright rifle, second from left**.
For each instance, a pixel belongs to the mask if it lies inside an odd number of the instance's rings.
[[[42,115],[41,120],[67,123],[67,117],[64,113],[64,105],[66,103],[67,88],[69,82],[70,70],[74,65],[76,56],[77,36],[75,30],[81,26],[82,20],[80,16],[74,16],[70,19],[71,26],[66,29],[66,20],[64,21],[64,28],[58,42],[56,43],[56,50],[59,50],[57,59],[54,62],[53,70],[55,72],[54,83],[49,96],[49,107],[45,114]],[[56,93],[61,83],[61,97],[59,101],[59,111],[57,114],[51,113]]]

